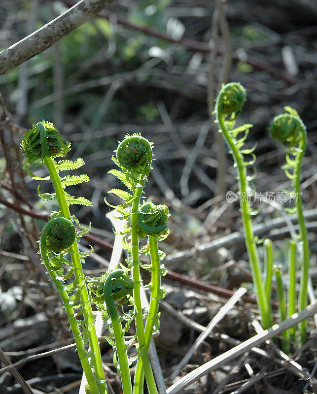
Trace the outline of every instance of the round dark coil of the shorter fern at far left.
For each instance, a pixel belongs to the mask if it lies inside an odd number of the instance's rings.
[[[75,237],[76,230],[70,220],[55,218],[43,227],[40,242],[46,247],[47,251],[59,254],[70,248],[75,241]]]

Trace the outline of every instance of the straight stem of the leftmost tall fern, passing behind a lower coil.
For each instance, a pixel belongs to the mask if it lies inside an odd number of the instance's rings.
[[[61,179],[56,171],[55,162],[53,159],[44,157],[44,163],[47,166],[48,172],[50,174],[53,186],[56,192],[56,197],[60,206],[61,214],[70,220],[70,210],[66,201],[64,189],[61,183]],[[102,365],[101,353],[98,343],[98,338],[96,334],[96,329],[94,326],[94,318],[92,314],[91,304],[88,297],[87,287],[84,279],[84,274],[82,271],[82,266],[80,263],[79,251],[77,243],[74,242],[70,247],[71,261],[74,266],[74,275],[78,283],[78,287],[81,289],[80,301],[83,308],[84,319],[87,322],[89,345],[92,352],[92,358],[95,367],[95,375],[100,381],[105,381],[105,374]],[[89,328],[88,328],[89,327]],[[101,394],[106,394],[106,383],[98,383]]]

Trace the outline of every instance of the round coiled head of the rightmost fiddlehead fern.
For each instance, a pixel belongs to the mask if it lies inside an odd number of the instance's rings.
[[[306,138],[306,128],[299,116],[284,113],[273,119],[270,126],[270,136],[291,148],[298,145],[303,137]]]

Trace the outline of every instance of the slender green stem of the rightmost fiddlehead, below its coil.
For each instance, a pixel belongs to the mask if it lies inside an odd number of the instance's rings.
[[[301,138],[298,146],[298,153],[296,155],[296,165],[293,172],[295,206],[297,210],[299,235],[300,235],[300,241],[302,243],[302,255],[303,255],[303,264],[302,264],[301,279],[300,279],[299,294],[298,294],[298,304],[300,311],[305,309],[307,306],[307,286],[308,286],[309,265],[310,265],[309,263],[310,252],[309,252],[309,244],[307,239],[307,229],[305,226],[305,219],[303,215],[301,185],[300,185],[300,169],[301,169],[301,164],[305,153],[305,149],[306,149],[306,131],[304,128],[301,128]],[[299,323],[301,344],[303,344],[306,340],[306,324],[307,324],[306,320]]]

